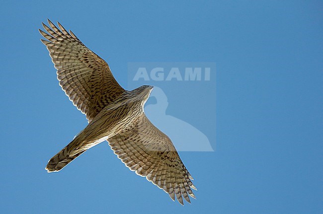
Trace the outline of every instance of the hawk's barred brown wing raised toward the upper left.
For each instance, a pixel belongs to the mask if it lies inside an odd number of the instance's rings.
[[[47,47],[62,89],[73,104],[86,115],[90,122],[106,105],[125,90],[114,79],[108,64],[89,50],[58,22],[57,28],[48,20],[47,32],[39,32],[47,40]]]

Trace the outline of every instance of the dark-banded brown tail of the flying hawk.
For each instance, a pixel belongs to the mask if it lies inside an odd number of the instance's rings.
[[[63,169],[67,164],[69,164],[72,160],[77,158],[86,150],[82,150],[79,153],[70,154],[68,145],[65,146],[60,152],[58,152],[55,156],[53,156],[46,166],[47,172],[58,172]]]

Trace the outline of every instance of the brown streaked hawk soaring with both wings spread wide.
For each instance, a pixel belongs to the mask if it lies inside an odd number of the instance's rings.
[[[48,172],[58,172],[84,151],[108,141],[118,158],[136,174],[146,177],[183,205],[196,190],[193,178],[171,140],[146,117],[144,105],[153,86],[125,90],[108,64],[89,50],[59,22],[40,34],[57,69],[57,78],[73,104],[86,115],[88,125],[48,162]]]

